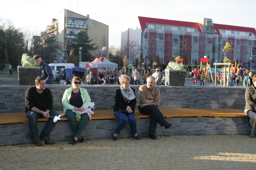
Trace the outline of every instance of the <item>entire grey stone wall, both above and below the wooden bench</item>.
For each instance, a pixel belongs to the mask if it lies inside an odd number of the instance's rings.
[[[131,85],[139,90],[139,85]],[[30,86],[0,86],[0,113],[22,112],[25,110],[24,95]],[[63,110],[62,96],[70,85],[47,85],[53,93],[54,110]],[[95,109],[112,109],[114,91],[118,85],[81,85],[87,89]],[[212,86],[163,86],[160,108],[237,108],[245,106],[245,87]],[[24,113],[25,116],[25,113]],[[156,135],[225,135],[250,134],[250,126],[243,118],[195,118],[175,117],[166,119],[173,126],[165,129],[157,125]],[[118,120],[91,120],[82,133],[86,139],[111,138]],[[148,136],[149,119],[136,120],[140,136]],[[39,134],[45,122],[38,122]],[[129,125],[121,131],[120,137],[132,137]],[[59,121],[51,133],[51,139],[68,141],[73,138],[69,121]],[[111,140],[111,139],[109,139]],[[132,139],[131,139],[132,140]],[[28,124],[12,123],[0,125],[0,145],[32,143]]]

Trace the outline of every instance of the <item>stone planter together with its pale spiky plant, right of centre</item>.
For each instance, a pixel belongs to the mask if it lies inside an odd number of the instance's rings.
[[[167,86],[184,86],[186,70],[185,66],[169,62],[165,71],[165,85]]]

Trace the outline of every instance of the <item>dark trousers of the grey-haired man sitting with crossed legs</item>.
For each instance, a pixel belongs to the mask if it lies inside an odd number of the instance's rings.
[[[162,127],[165,125],[166,121],[164,120],[163,114],[160,112],[156,105],[148,105],[145,107],[138,107],[141,114],[150,115],[150,124],[148,134],[153,135],[156,132],[157,122]]]

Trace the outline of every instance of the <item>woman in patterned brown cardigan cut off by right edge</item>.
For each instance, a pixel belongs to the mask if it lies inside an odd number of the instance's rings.
[[[245,114],[250,118],[251,134],[254,138],[255,122],[256,122],[256,75],[252,78],[252,85],[245,90]]]

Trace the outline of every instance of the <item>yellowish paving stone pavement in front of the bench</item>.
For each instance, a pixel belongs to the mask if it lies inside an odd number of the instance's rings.
[[[256,138],[187,135],[0,146],[0,169],[256,169]]]

